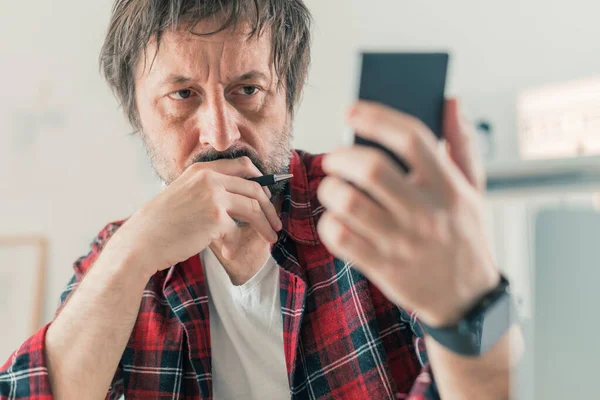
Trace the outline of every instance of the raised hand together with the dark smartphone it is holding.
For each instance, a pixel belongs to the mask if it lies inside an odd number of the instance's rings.
[[[347,122],[367,146],[323,158],[319,237],[391,302],[428,326],[451,326],[499,274],[474,169],[461,162],[475,155],[472,131],[456,101],[444,101],[447,56],[364,54],[362,66],[360,98],[370,101],[355,104]],[[448,156],[436,143],[442,126]]]

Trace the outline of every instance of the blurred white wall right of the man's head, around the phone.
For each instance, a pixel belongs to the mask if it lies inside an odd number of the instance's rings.
[[[313,70],[299,145],[341,142],[358,49],[449,50],[448,92],[488,118],[501,161],[517,157],[515,96],[547,82],[600,75],[600,3],[589,0],[306,0],[315,16]],[[350,97],[349,97],[350,96]]]

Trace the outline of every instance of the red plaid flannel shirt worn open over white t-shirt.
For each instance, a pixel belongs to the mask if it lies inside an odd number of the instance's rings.
[[[319,241],[321,156],[294,152],[272,247],[281,271],[284,353],[292,399],[439,398],[422,331]],[[121,223],[107,225],[74,265],[64,304]],[[4,321],[10,325],[9,321]],[[0,368],[0,399],[52,399],[44,359],[48,326]],[[211,399],[208,297],[200,258],[155,274],[107,398]],[[259,365],[256,366],[260,368]],[[91,373],[91,371],[90,371]]]

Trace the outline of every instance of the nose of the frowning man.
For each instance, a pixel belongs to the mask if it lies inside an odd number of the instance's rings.
[[[224,96],[211,96],[198,110],[200,143],[225,151],[240,139],[240,131],[235,123],[235,110]]]

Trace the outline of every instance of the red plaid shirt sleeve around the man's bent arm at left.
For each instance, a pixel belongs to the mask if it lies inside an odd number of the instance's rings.
[[[120,223],[107,225],[91,243],[91,250],[88,255],[79,258],[75,262],[73,266],[74,275],[61,295],[61,304],[56,315],[67,303],[70,295],[96,261],[105,243],[118,226],[120,226]],[[50,325],[51,322],[27,339],[0,367],[0,400],[51,400],[54,398],[45,357],[46,332]],[[123,394],[120,375],[120,369],[117,369],[107,393],[107,399],[116,399]]]

